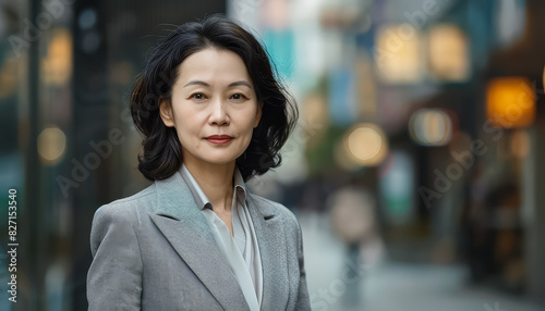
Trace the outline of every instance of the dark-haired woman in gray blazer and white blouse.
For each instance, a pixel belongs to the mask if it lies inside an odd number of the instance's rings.
[[[178,27],[131,111],[155,183],[96,211],[89,310],[310,310],[298,221],[244,184],[296,119],[257,40],[220,16]]]

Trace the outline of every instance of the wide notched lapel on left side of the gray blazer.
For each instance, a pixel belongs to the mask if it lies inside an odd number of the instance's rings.
[[[152,220],[226,310],[250,310],[242,289],[180,173],[157,181]]]

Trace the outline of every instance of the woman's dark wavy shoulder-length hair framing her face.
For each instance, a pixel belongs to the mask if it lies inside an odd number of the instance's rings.
[[[169,32],[134,84],[131,114],[143,134],[138,170],[147,179],[168,178],[182,165],[180,140],[175,129],[162,123],[159,103],[161,100],[171,102],[180,64],[191,54],[208,48],[229,50],[242,59],[255,86],[257,101],[263,103],[262,117],[252,140],[237,159],[243,178],[262,175],[278,167],[282,161],[280,148],[299,115],[295,102],[279,83],[267,51],[255,37],[235,22],[213,15]]]

